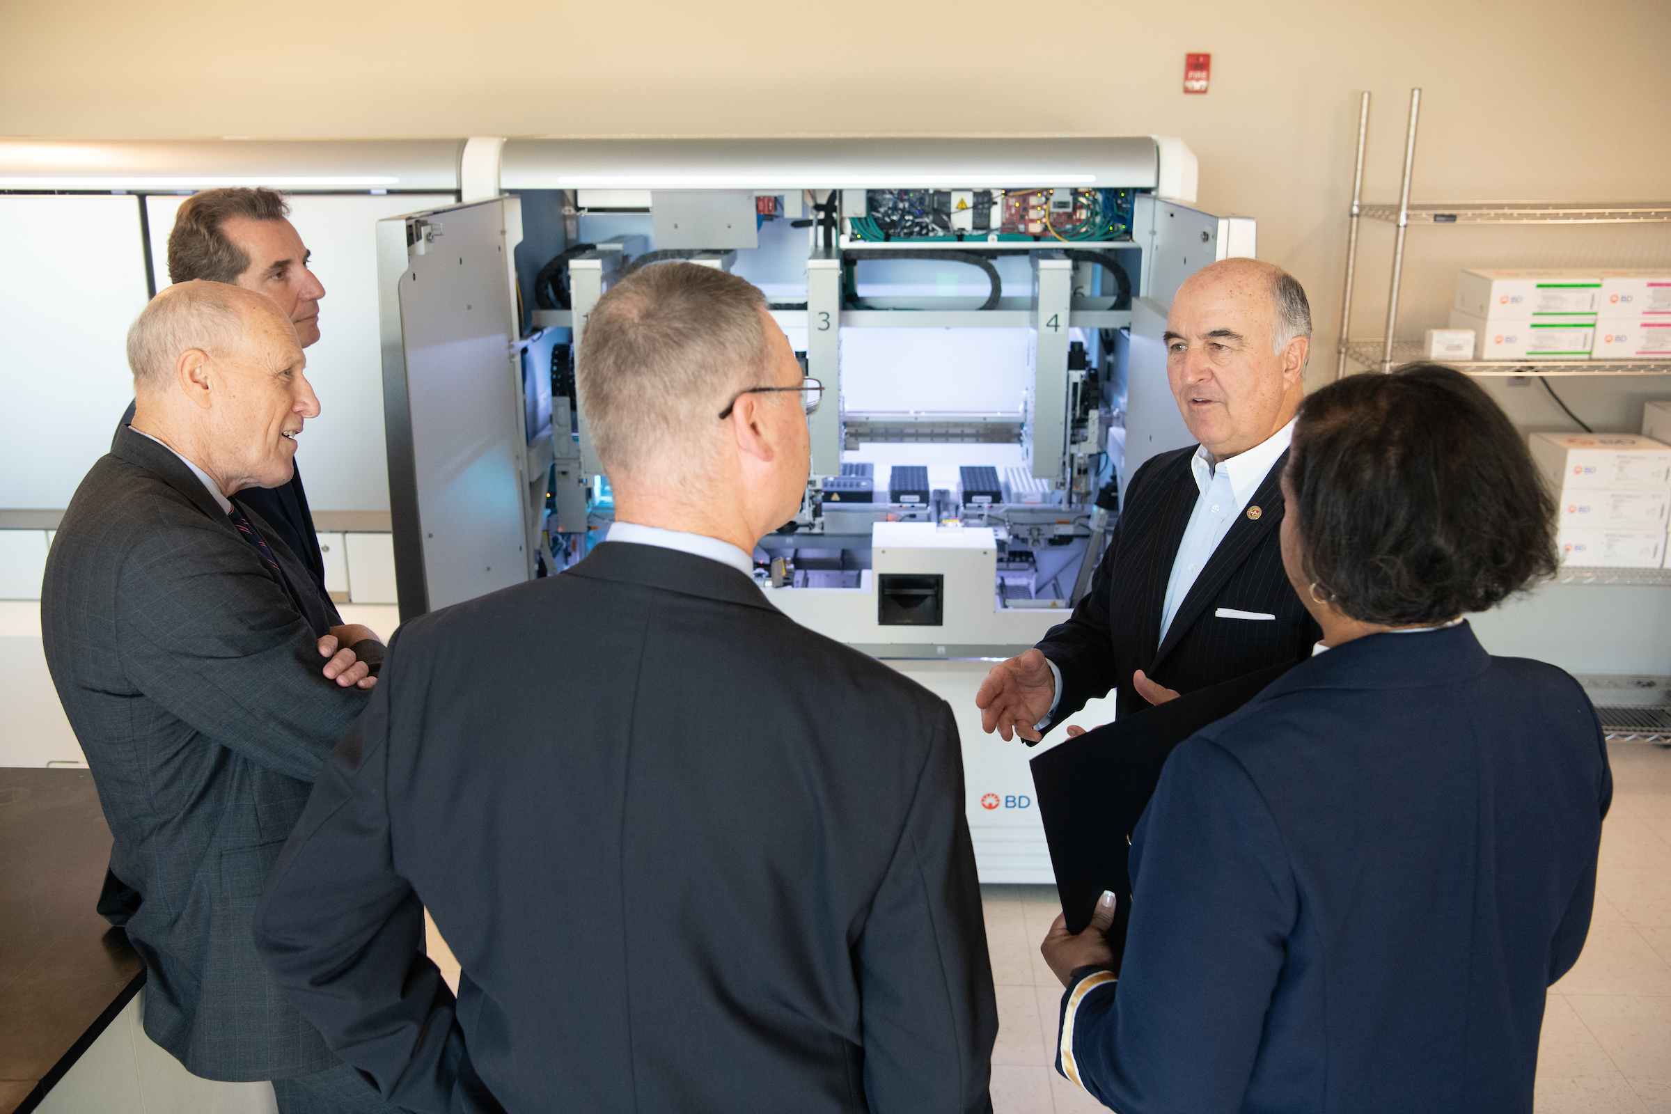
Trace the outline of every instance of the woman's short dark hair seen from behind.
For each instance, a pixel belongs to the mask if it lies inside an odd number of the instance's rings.
[[[1315,593],[1364,623],[1484,611],[1556,571],[1556,501],[1526,439],[1442,364],[1333,382],[1300,406],[1288,483]]]

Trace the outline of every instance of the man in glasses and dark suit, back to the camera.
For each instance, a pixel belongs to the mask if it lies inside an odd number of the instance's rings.
[[[257,909],[274,979],[409,1111],[989,1111],[951,708],[752,580],[817,381],[755,287],[663,262],[576,382],[608,539],[401,626]]]

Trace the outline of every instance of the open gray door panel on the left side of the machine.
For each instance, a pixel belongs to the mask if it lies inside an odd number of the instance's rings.
[[[384,421],[403,621],[530,576],[510,277],[520,239],[516,197],[379,222],[379,279],[396,284],[399,327],[398,351],[384,336]]]

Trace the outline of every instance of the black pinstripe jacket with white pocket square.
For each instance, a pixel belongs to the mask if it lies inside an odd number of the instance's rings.
[[[1146,708],[1148,701],[1131,688],[1136,670],[1190,693],[1300,661],[1322,638],[1282,568],[1280,479],[1287,453],[1248,501],[1248,509],[1260,508],[1258,518],[1237,519],[1183,598],[1166,638],[1160,636],[1166,581],[1200,496],[1190,473],[1191,456],[1195,446],[1165,453],[1131,476],[1125,511],[1091,578],[1091,591],[1038,645],[1061,670],[1061,701],[1051,725],[1110,688],[1118,688],[1118,715]],[[1220,608],[1277,618],[1222,618]]]

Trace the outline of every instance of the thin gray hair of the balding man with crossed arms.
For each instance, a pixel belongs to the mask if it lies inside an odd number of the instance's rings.
[[[211,356],[237,351],[249,312],[282,319],[266,294],[226,282],[175,282],[139,312],[127,331],[127,366],[134,389],[160,387],[174,374],[180,352],[202,349]]]

